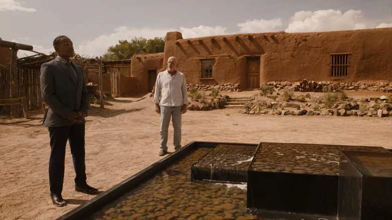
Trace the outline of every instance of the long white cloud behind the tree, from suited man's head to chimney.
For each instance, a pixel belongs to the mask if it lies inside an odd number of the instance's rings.
[[[110,35],[102,35],[95,39],[81,43],[75,52],[79,55],[85,55],[89,57],[102,56],[108,50],[110,46],[115,46],[119,43],[119,40],[130,41],[134,37],[144,37],[146,39],[152,39],[155,37],[165,37],[167,32],[175,31],[173,29],[133,29],[126,26],[121,26],[115,29],[115,32]]]

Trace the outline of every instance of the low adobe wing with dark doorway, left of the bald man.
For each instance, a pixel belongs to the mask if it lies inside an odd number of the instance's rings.
[[[131,58],[131,75],[137,79],[138,89],[141,92],[150,92],[148,89],[148,70],[156,70],[156,74],[162,69],[163,53],[135,54]],[[135,93],[138,91],[134,91]]]

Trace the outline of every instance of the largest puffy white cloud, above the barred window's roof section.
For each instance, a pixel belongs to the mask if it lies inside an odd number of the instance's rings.
[[[320,10],[316,12],[297,12],[288,24],[286,32],[322,32],[365,29],[361,23],[362,12],[348,10]]]

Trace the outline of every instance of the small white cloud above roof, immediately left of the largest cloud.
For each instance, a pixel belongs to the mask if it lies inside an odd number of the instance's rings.
[[[273,32],[280,31],[282,27],[282,21],[280,18],[271,20],[247,20],[244,23],[237,25],[240,28],[240,33],[262,33],[262,32]]]

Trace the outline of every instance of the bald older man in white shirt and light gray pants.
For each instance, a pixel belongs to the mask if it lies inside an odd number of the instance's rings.
[[[161,115],[159,141],[161,150],[159,156],[167,153],[167,132],[169,130],[170,117],[173,124],[174,150],[181,148],[181,114],[186,113],[188,92],[183,73],[177,71],[178,59],[167,59],[167,70],[160,72],[156,78],[154,103],[155,112]]]

